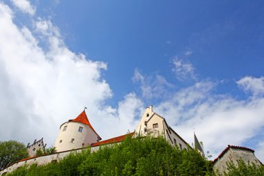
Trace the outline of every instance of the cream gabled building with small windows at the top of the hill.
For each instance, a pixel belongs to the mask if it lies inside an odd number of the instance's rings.
[[[143,113],[142,118],[135,129],[135,135],[150,135],[153,137],[164,136],[171,145],[177,145],[180,150],[188,148],[188,143],[186,143],[183,138],[172,129],[172,127],[167,125],[165,118],[153,111],[152,106],[147,107]]]

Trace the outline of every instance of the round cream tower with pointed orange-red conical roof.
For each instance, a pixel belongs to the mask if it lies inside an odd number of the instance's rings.
[[[87,147],[100,141],[101,137],[90,124],[85,110],[74,120],[60,125],[60,132],[54,147],[57,152]]]

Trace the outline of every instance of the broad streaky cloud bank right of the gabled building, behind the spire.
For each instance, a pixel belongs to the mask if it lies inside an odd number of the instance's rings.
[[[154,106],[188,143],[193,142],[195,129],[213,157],[229,144],[243,145],[264,127],[263,98],[242,101],[228,95],[214,95],[211,90],[215,86],[208,81],[195,83]],[[260,148],[256,149],[258,158],[264,156]]]

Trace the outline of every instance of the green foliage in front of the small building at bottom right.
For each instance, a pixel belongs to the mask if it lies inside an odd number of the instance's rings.
[[[255,163],[245,163],[242,159],[238,160],[237,165],[233,162],[227,163],[226,176],[240,175],[264,175],[264,166],[257,166]]]

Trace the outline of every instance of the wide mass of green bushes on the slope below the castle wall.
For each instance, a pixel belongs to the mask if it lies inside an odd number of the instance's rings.
[[[211,171],[209,161],[191,147],[179,150],[163,137],[128,137],[92,154],[83,150],[57,163],[21,167],[8,175],[210,175]]]

